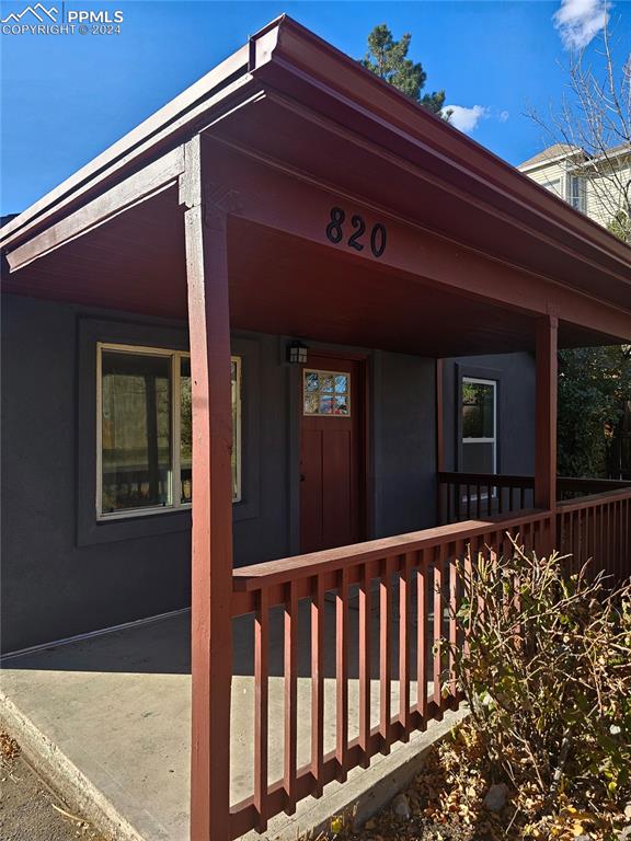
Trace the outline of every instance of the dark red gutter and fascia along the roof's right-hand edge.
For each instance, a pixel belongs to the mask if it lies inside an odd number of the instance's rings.
[[[264,49],[253,48],[250,72],[264,85],[284,90],[289,95],[301,85],[310,89],[311,107],[326,113],[334,100],[368,115],[375,123],[388,124],[399,134],[405,133],[424,152],[466,173],[497,196],[508,196],[521,208],[528,208],[553,238],[578,238],[592,246],[615,255],[631,269],[631,249],[609,231],[580,214],[566,201],[534,182],[485,147],[446,120],[422,108],[409,96],[375,77],[328,42],[292,19],[284,15],[266,27]],[[256,42],[259,35],[253,36]],[[272,46],[273,44],[273,46]],[[262,57],[262,59],[261,59]],[[331,115],[333,118],[336,115]]]

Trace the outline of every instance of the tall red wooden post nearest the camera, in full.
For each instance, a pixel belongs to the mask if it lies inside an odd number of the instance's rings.
[[[191,839],[230,838],[232,479],[226,216],[206,207],[199,136],[185,147],[193,395]]]

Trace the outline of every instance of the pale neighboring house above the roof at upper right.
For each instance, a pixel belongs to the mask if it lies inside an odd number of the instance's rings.
[[[629,143],[611,147],[599,155],[588,155],[567,143],[554,143],[517,169],[605,228],[620,212],[630,216]]]

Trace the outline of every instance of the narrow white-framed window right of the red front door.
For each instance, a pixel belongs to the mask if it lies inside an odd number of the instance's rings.
[[[497,382],[462,378],[462,471],[497,472]]]

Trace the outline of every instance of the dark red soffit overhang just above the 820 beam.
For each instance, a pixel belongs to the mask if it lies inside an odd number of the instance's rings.
[[[515,196],[503,184],[489,183],[487,172],[484,177],[477,173],[471,160],[449,160],[447,148],[438,155],[425,138],[412,143],[375,127],[362,136],[354,116],[352,130],[268,91],[218,124],[213,137],[279,171],[308,174],[333,194],[360,197],[393,218],[631,310],[629,249],[595,222],[578,220],[587,223],[581,238],[569,229],[553,231],[557,205],[581,215],[539,185],[518,183],[524,194]],[[431,123],[428,128],[438,133],[441,126],[433,124],[440,120]],[[492,157],[475,149],[481,151]],[[502,162],[498,174],[504,169]],[[596,244],[604,234],[605,249]]]

